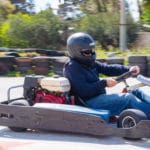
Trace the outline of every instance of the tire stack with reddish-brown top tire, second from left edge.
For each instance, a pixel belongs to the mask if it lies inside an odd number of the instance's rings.
[[[32,58],[30,57],[18,57],[16,59],[16,71],[21,73],[27,73],[32,70]]]

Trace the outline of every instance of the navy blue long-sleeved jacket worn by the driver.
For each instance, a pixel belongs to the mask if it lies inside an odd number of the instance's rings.
[[[129,67],[115,64],[106,65],[95,61],[91,67],[84,66],[74,59],[64,67],[64,76],[71,83],[71,91],[84,100],[106,93],[106,80],[99,75],[118,76],[129,70]]]

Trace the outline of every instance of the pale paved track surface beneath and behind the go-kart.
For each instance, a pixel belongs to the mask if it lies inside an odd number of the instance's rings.
[[[23,84],[24,78],[0,78],[0,100],[7,99],[10,86]],[[130,82],[132,81],[132,82]],[[129,80],[134,84],[135,79]],[[120,92],[124,85],[108,89],[108,92]],[[145,88],[148,92],[150,88]],[[11,92],[12,98],[22,94],[22,89]],[[129,141],[118,137],[91,137],[65,133],[28,131],[16,133],[7,127],[0,126],[0,150],[149,150],[150,139]]]

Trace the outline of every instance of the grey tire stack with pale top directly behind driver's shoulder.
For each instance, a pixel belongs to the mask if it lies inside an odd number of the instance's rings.
[[[52,59],[52,69],[54,74],[63,76],[64,65],[68,62],[68,57],[54,57]]]

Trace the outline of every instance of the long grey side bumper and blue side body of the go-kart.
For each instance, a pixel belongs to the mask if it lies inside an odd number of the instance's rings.
[[[118,80],[118,82],[123,81],[128,78],[131,73],[132,72],[128,72],[116,80]],[[142,85],[146,84],[142,83]],[[13,88],[17,87],[21,86],[19,85]],[[8,90],[9,92],[10,89]],[[9,96],[8,101],[11,101]],[[117,128],[106,119],[110,117],[109,112],[103,110],[93,110],[76,105],[68,106],[67,104],[50,103],[39,103],[35,104],[35,106],[17,106],[8,105],[8,101],[0,103],[1,126],[93,136],[118,136],[129,139],[150,138],[150,120],[141,120],[132,128]]]

